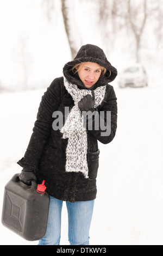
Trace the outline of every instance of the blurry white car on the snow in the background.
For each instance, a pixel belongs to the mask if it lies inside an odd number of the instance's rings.
[[[128,66],[119,75],[118,85],[120,88],[148,86],[146,70],[139,63]]]

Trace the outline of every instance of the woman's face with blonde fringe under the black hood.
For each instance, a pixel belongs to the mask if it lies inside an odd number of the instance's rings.
[[[82,64],[81,64],[82,65]],[[78,75],[86,88],[91,88],[99,79],[102,69],[97,63],[85,62],[79,67]]]

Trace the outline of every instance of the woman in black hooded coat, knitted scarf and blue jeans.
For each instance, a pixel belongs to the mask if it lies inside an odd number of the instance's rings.
[[[89,245],[97,193],[97,141],[110,143],[117,127],[117,99],[108,84],[117,70],[101,48],[87,44],[64,66],[63,74],[42,96],[27,151],[18,161],[23,167],[20,180],[27,185],[32,179],[46,181],[49,215],[46,235],[39,245],[59,245],[63,201],[70,244]],[[111,112],[109,125],[107,112]]]

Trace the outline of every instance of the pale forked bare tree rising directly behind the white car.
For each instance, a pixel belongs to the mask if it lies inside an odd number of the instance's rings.
[[[136,14],[139,12],[139,10],[134,9],[132,6],[133,5],[131,4],[131,0],[128,0],[128,18],[129,18],[131,29],[136,39],[136,61],[140,62],[139,50],[140,50],[141,36],[147,20],[147,0],[143,0],[143,18],[142,18],[141,24],[136,19]],[[137,23],[140,24],[140,27],[136,25]]]

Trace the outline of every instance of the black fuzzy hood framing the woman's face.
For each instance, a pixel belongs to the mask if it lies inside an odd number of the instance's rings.
[[[83,82],[80,80],[78,74],[75,75],[72,72],[72,68],[74,65],[82,63],[82,62],[93,62],[97,63],[104,68],[106,68],[106,73],[104,76],[99,77],[97,83],[93,86],[93,89],[96,89],[99,86],[105,86],[106,83],[109,83],[115,80],[117,76],[117,70],[105,56],[105,53],[101,48],[96,45],[83,45],[77,53],[77,56],[71,61],[65,64],[63,72],[64,76],[71,83],[77,84],[80,88],[85,88]],[[111,75],[110,75],[111,72]]]

